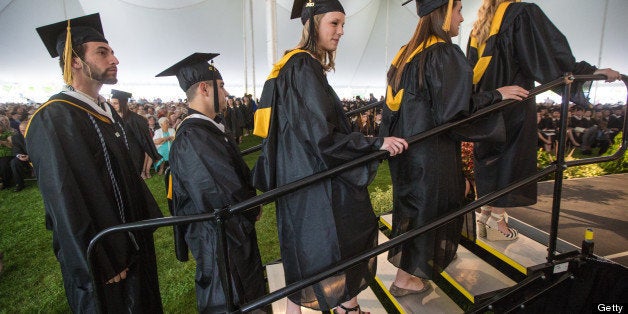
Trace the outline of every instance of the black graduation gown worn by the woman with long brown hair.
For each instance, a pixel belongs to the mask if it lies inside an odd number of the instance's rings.
[[[418,77],[423,55],[421,88]],[[383,107],[380,135],[407,138],[501,100],[497,91],[480,93],[472,99],[471,77],[472,70],[458,46],[443,42],[426,48],[404,68],[399,86],[404,94],[398,111]],[[472,140],[472,135],[469,128],[461,127],[413,144],[403,154],[389,159],[393,183],[392,237],[462,207],[465,180],[460,139]],[[388,259],[410,274],[432,278],[451,262],[461,228],[462,217],[391,249]]]

